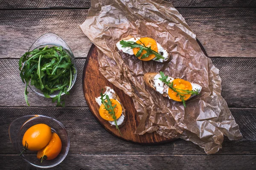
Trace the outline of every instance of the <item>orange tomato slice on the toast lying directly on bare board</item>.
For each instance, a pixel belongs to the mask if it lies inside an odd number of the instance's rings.
[[[118,119],[122,114],[122,106],[117,100],[115,99],[110,99],[110,100],[112,102],[112,106],[116,105],[116,107],[114,108],[114,112],[116,115],[116,119]],[[99,115],[105,120],[114,121],[111,114],[108,113],[108,111],[105,109],[105,106],[103,104],[99,108]]]

